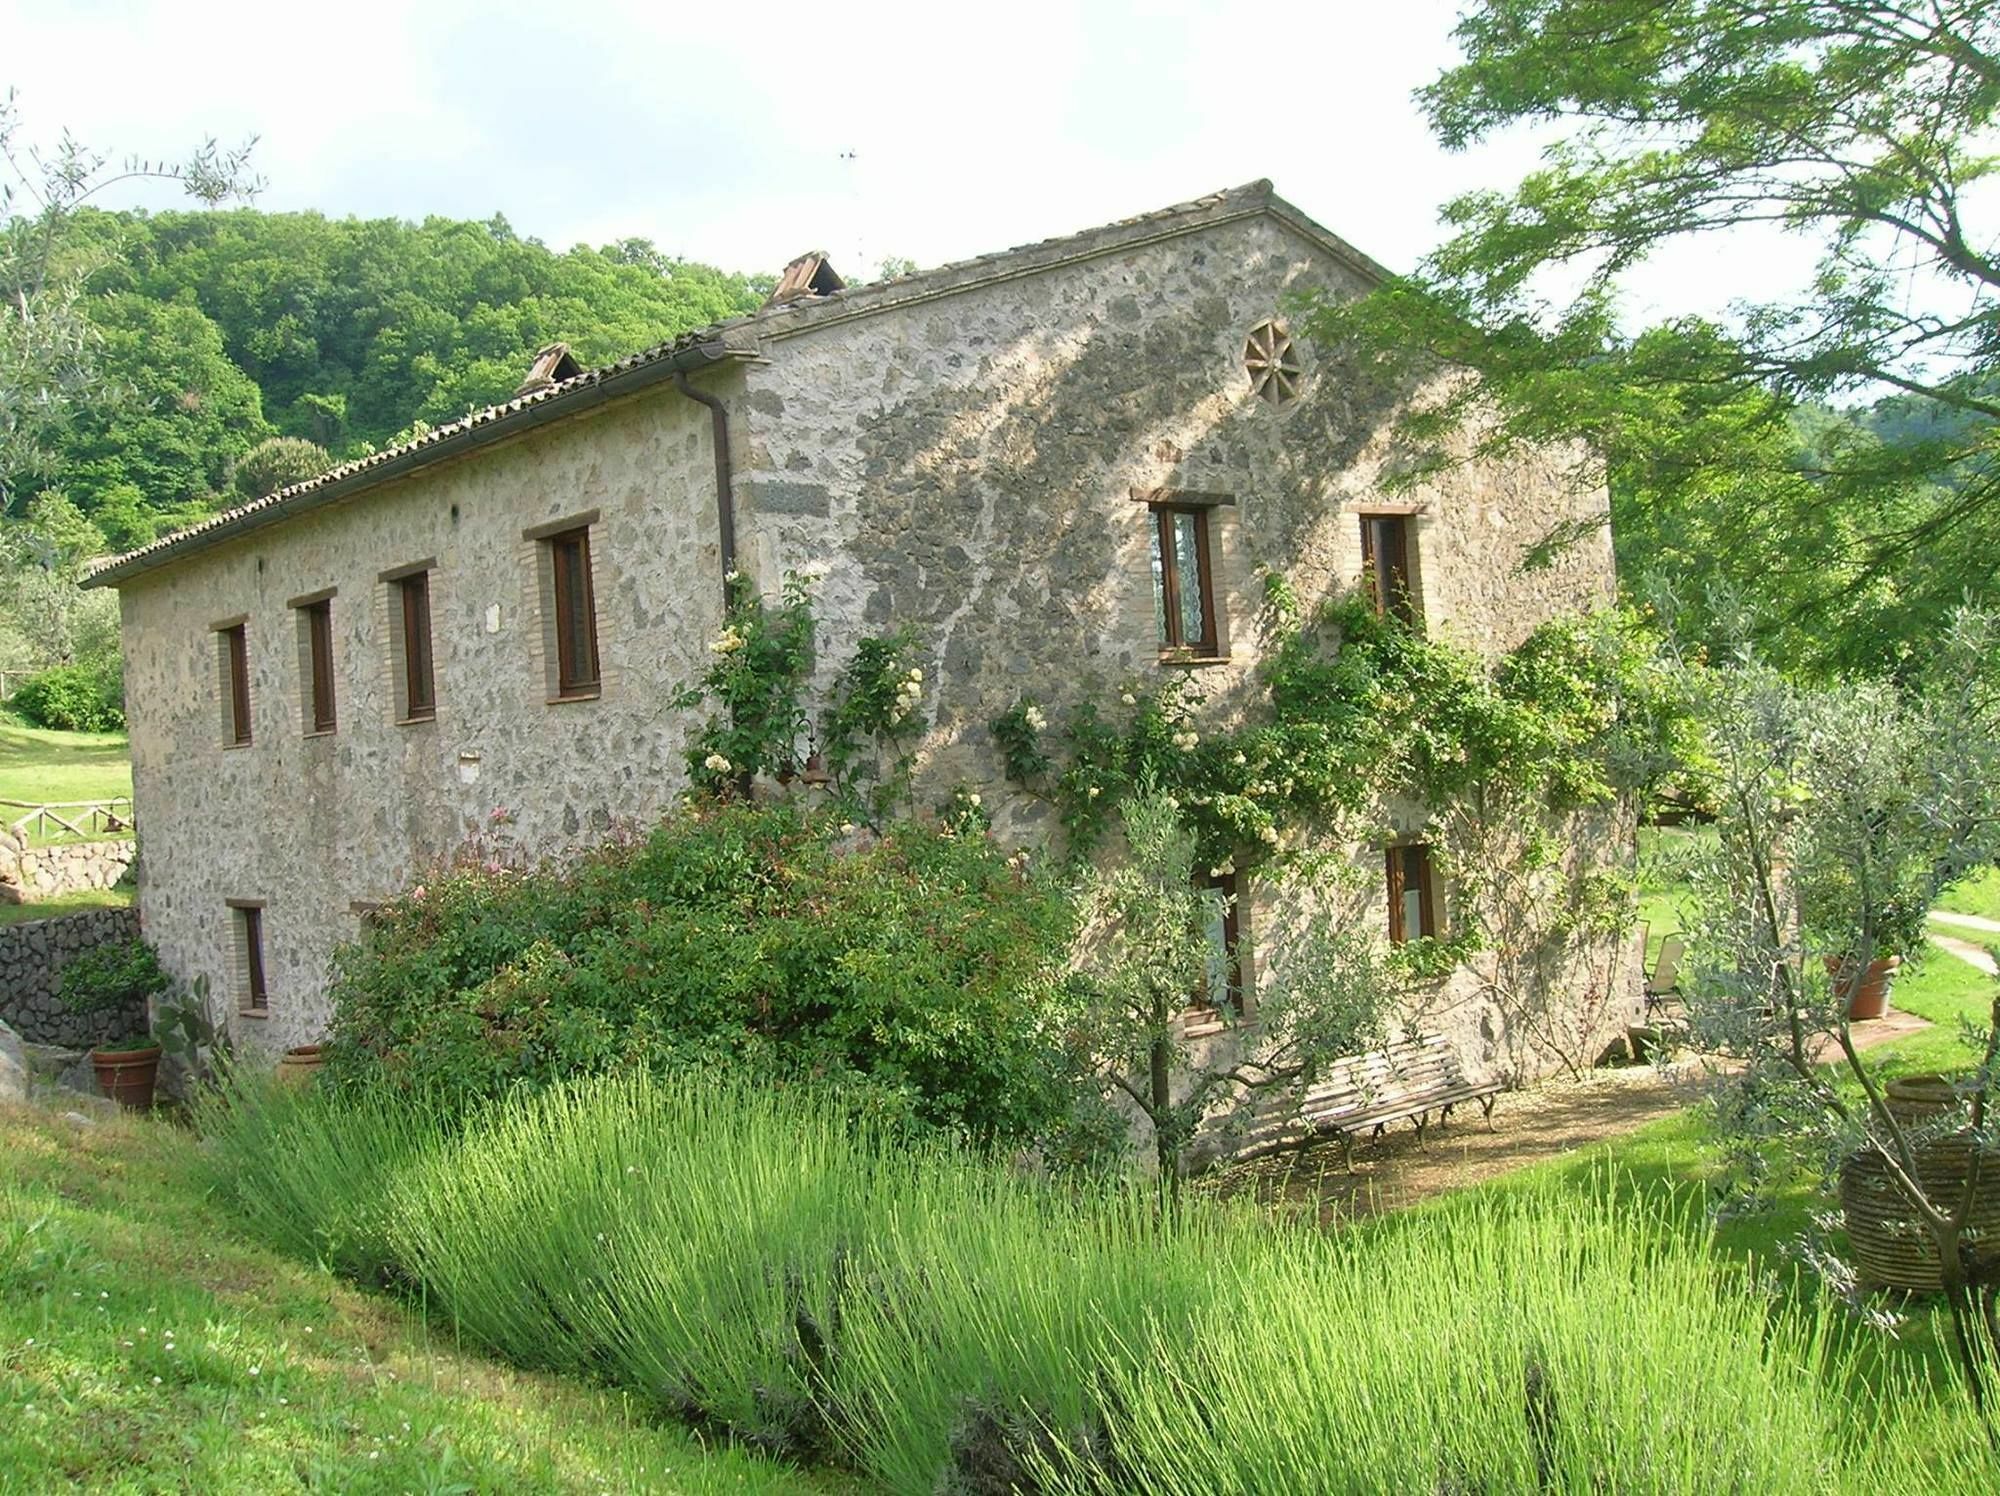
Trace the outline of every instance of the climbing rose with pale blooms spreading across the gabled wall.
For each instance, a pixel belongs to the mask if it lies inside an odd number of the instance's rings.
[[[1260,700],[1204,720],[1192,676],[1084,702],[1060,732],[1022,698],[992,722],[1010,780],[1060,810],[1088,856],[1140,782],[1174,794],[1210,866],[1308,856],[1300,832],[1366,818],[1384,798],[1466,798],[1550,812],[1648,792],[1694,748],[1632,610],[1554,620],[1488,664],[1358,594],[1306,614],[1266,576]]]

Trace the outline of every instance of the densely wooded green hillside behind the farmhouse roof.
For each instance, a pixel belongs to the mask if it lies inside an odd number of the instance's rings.
[[[768,288],[636,238],[558,254],[498,216],[84,212],[70,232],[120,398],[78,410],[54,488],[114,548],[238,498],[236,460],[270,436],[362,456],[508,398],[548,342],[598,364]]]

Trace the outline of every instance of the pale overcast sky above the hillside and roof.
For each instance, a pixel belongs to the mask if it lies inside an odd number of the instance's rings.
[[[1448,156],[1410,92],[1456,0],[392,6],[0,0],[26,134],[118,156],[258,136],[258,204],[642,236],[732,270],[850,276],[1064,234],[1268,176],[1392,268],[1524,138]],[[112,198],[166,206],[170,196]],[[1710,308],[1708,264],[1654,306]]]

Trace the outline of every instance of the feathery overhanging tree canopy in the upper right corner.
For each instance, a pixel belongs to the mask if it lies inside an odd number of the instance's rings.
[[[1446,146],[1524,122],[1560,138],[1512,192],[1450,202],[1416,274],[1314,318],[1410,372],[1482,376],[1410,434],[1434,452],[1446,430],[1476,432],[1460,452],[1584,436],[1602,468],[1578,476],[1608,472],[1628,574],[1734,576],[1794,666],[1892,660],[1964,588],[1990,596],[2000,12],[1478,0],[1458,40],[1464,62],[1422,92]],[[1766,228],[1816,254],[1790,294],[1622,324],[1658,252]],[[1828,418],[1870,400],[1888,402]]]

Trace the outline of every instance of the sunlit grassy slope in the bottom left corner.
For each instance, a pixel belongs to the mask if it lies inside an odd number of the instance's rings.
[[[828,1490],[242,1244],[190,1146],[0,1106],[0,1492]]]

